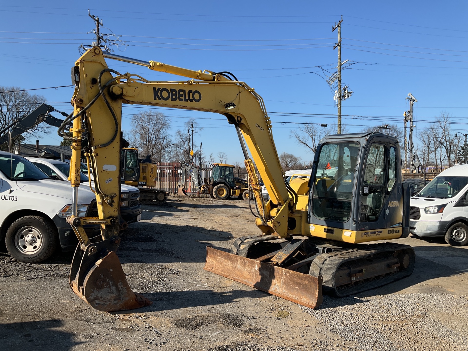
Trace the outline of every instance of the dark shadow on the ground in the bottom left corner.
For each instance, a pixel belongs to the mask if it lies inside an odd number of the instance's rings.
[[[63,325],[57,319],[0,324],[1,350],[67,351],[82,344],[73,340],[72,333],[57,330]]]

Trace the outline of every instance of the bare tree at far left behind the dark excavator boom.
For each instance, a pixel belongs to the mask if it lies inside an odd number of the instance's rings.
[[[29,114],[44,102],[45,97],[42,95],[29,94],[19,87],[0,86],[0,129]],[[50,125],[41,123],[25,132],[24,136],[27,139],[29,135],[35,136],[37,132],[49,132],[50,129]]]

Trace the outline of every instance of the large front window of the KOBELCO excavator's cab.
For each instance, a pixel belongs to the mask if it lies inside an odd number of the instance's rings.
[[[317,218],[346,222],[351,217],[358,153],[356,142],[325,144],[320,149],[312,193],[312,211]]]

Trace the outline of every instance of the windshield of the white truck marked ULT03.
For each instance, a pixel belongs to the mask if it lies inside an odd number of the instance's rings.
[[[21,156],[0,155],[0,171],[15,182],[50,179],[43,171]]]

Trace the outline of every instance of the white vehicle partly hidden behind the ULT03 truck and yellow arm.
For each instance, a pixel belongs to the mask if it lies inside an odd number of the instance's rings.
[[[53,179],[69,182],[70,164],[60,160],[25,157]],[[89,189],[89,178],[83,172],[80,174],[81,187]],[[94,189],[94,182],[91,182]],[[120,184],[120,215],[127,223],[138,222],[141,219],[141,205],[139,204],[140,190],[127,184]],[[97,206],[94,205],[93,216],[97,217]]]

